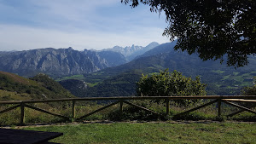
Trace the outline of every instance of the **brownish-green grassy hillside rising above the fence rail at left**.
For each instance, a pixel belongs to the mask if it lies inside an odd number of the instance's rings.
[[[13,73],[0,72],[0,101],[65,97],[73,95],[46,75],[28,79]]]

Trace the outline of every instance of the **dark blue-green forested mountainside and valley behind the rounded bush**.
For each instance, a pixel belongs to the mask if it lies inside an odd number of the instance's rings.
[[[168,68],[177,70],[184,76],[200,76],[207,84],[207,95],[240,95],[241,89],[253,85],[256,76],[256,58],[249,56],[249,64],[244,67],[228,67],[219,60],[202,61],[197,55],[177,52],[173,43],[165,43],[149,50],[129,63],[108,67],[98,72],[73,76],[89,85],[79,96],[130,96],[136,94],[136,82],[142,74],[152,74]],[[67,79],[58,78],[57,80]],[[111,94],[111,95],[110,95]]]

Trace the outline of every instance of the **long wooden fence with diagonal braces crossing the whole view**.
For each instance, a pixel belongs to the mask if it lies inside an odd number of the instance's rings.
[[[25,111],[24,110],[25,110],[25,107],[27,107],[27,108],[37,110],[39,112],[44,112],[44,113],[53,115],[55,117],[64,118],[67,120],[73,119],[74,121],[78,121],[78,120],[84,119],[86,117],[89,117],[90,115],[92,115],[96,112],[100,112],[103,109],[112,107],[113,105],[116,105],[116,104],[119,104],[119,110],[120,110],[120,112],[123,112],[123,104],[125,103],[128,105],[131,105],[132,107],[137,107],[137,108],[143,109],[144,111],[152,112],[156,115],[160,115],[159,113],[149,110],[146,107],[141,107],[136,104],[133,104],[129,100],[165,100],[166,101],[166,115],[168,115],[170,113],[170,101],[172,101],[172,100],[189,100],[189,99],[210,99],[213,101],[210,101],[207,104],[201,105],[200,107],[195,107],[188,111],[180,112],[175,116],[193,112],[202,107],[207,107],[209,105],[212,105],[213,103],[218,103],[218,116],[220,116],[222,102],[224,102],[230,106],[238,107],[241,109],[240,111],[230,113],[228,116],[233,116],[233,115],[236,115],[236,114],[238,114],[240,112],[244,112],[244,111],[253,112],[256,114],[255,111],[250,109],[251,107],[250,108],[242,107],[236,103],[230,102],[230,101],[256,102],[256,95],[246,95],[246,96],[245,95],[236,95],[236,96],[235,95],[232,95],[232,96],[230,96],[230,95],[223,95],[223,96],[221,96],[221,95],[207,95],[207,96],[198,95],[198,96],[86,97],[86,98],[67,98],[67,99],[52,99],[52,100],[32,100],[32,101],[0,101],[0,106],[8,105],[8,104],[16,105],[16,106],[9,107],[9,108],[6,108],[6,109],[0,111],[0,114],[3,112],[9,112],[15,108],[20,107],[20,125],[24,125],[25,124]],[[63,101],[72,101],[72,117],[71,118],[29,105],[32,103],[63,102]],[[96,111],[86,113],[82,117],[76,118],[76,101],[115,101],[115,102],[113,102],[105,107],[99,108]]]

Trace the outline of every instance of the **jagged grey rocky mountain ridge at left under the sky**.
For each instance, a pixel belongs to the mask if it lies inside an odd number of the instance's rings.
[[[0,71],[34,76],[44,72],[51,77],[90,73],[126,62],[117,52],[68,49],[32,49],[0,53]]]

